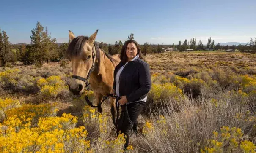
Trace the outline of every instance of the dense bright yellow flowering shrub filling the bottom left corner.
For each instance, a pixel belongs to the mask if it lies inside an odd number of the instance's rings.
[[[90,148],[85,127],[74,128],[77,117],[63,114],[62,117],[41,118],[35,128],[30,128],[30,122],[25,123],[25,118],[13,116],[0,124],[0,152],[66,153],[84,152]],[[55,120],[62,126],[55,126]]]

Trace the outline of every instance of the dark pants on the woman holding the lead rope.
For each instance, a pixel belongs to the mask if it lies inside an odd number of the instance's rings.
[[[134,103],[130,103],[127,106],[127,111],[129,114],[129,118],[132,121],[133,125],[132,127],[125,127],[121,130],[121,133],[124,133],[126,135],[126,143],[124,145],[124,148],[127,148],[129,145],[129,132],[132,129],[133,131],[137,132],[137,126],[138,126],[138,121],[137,118],[140,115],[140,112],[142,111],[144,105],[146,104],[146,102],[134,102]]]

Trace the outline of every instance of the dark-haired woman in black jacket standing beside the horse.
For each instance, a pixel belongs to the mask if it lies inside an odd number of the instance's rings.
[[[121,62],[114,71],[113,91],[111,94],[120,97],[118,103],[127,107],[130,126],[122,127],[126,135],[125,148],[129,145],[129,131],[137,132],[137,118],[146,104],[147,93],[151,89],[149,64],[142,60],[141,51],[135,40],[124,43],[120,55]],[[125,109],[122,109],[124,111]],[[133,125],[133,127],[131,127]]]

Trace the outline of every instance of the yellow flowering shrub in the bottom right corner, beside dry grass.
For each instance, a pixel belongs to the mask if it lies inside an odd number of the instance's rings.
[[[242,141],[242,130],[240,128],[223,126],[220,133],[214,131],[212,138],[207,140],[209,146],[201,149],[201,153],[226,153],[244,152],[254,153],[255,144],[250,141]]]

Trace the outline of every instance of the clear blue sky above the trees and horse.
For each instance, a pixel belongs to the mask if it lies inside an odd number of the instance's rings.
[[[138,43],[172,44],[196,38],[206,44],[256,37],[256,0],[4,0],[0,28],[11,43],[30,43],[39,21],[58,42],[68,30],[115,43],[134,33]]]

